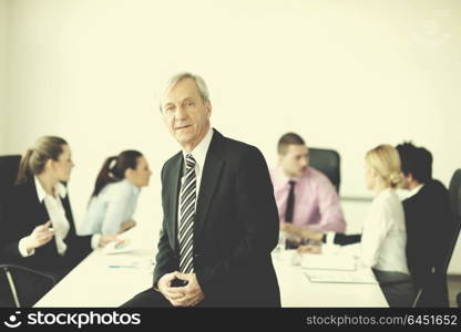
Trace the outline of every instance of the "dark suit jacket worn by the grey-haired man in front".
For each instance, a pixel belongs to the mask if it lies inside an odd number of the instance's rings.
[[[164,220],[154,284],[178,270],[177,205],[183,154],[162,169]],[[279,307],[270,252],[278,212],[267,164],[254,146],[214,131],[203,169],[194,221],[194,271],[204,305]]]

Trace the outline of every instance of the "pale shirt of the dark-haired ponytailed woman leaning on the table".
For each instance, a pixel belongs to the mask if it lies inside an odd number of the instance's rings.
[[[91,198],[79,234],[117,234],[122,222],[132,219],[140,191],[127,179],[104,186],[96,197]]]

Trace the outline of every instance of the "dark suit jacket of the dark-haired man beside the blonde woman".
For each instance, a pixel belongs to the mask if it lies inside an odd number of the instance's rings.
[[[418,194],[403,200],[403,210],[408,268],[416,286],[424,289],[421,302],[448,305],[447,271],[443,271],[451,227],[448,190],[440,181],[430,180]]]

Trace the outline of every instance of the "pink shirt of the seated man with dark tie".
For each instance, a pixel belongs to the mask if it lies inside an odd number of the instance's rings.
[[[285,222],[285,211],[289,194],[288,178],[281,168],[270,170],[274,195],[280,222]],[[295,185],[295,209],[293,224],[309,226],[320,231],[345,232],[346,222],[339,205],[338,194],[327,176],[308,167],[306,173],[293,178]]]

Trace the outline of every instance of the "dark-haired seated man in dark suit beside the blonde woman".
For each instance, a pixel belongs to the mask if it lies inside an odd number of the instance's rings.
[[[447,276],[443,269],[450,229],[447,188],[432,179],[432,155],[411,143],[397,146],[403,187],[410,197],[403,200],[407,226],[407,261],[416,286],[423,292],[418,305],[448,307]]]

